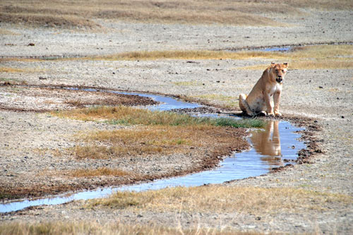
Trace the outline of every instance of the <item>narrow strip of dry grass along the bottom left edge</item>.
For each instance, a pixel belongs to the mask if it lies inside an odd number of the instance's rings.
[[[193,229],[162,227],[157,225],[128,225],[121,223],[99,224],[95,221],[80,222],[7,222],[0,224],[0,235],[24,235],[24,234],[165,234],[165,235],[228,235],[228,234],[258,234],[255,232],[241,232],[232,229]]]

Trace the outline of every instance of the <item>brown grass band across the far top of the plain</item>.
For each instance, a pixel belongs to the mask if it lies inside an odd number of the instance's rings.
[[[10,1],[0,3],[0,21],[60,28],[97,28],[95,19],[153,23],[284,25],[271,16],[297,16],[301,8],[344,10],[352,1]]]

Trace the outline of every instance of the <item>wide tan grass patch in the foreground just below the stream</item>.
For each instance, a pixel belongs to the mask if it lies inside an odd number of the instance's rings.
[[[152,211],[243,212],[253,215],[276,215],[280,212],[330,210],[328,205],[349,205],[352,196],[318,193],[297,188],[256,188],[202,186],[165,188],[159,191],[117,192],[109,198],[89,200],[86,207]]]

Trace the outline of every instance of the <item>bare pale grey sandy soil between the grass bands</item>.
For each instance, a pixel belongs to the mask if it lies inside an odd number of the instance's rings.
[[[153,25],[141,23],[100,22],[113,28],[110,32],[71,32],[47,28],[32,29],[2,24],[13,32],[1,35],[1,56],[86,56],[137,50],[225,49],[268,47],[282,44],[316,44],[352,42],[352,11],[312,11],[304,18],[288,18],[287,28],[235,27],[222,25]],[[335,19],[335,20],[333,20]],[[318,26],[319,25],[319,26]],[[4,36],[4,37],[3,37]],[[28,46],[32,42],[35,46]],[[6,46],[4,46],[6,44]],[[89,85],[120,90],[160,92],[186,95],[202,100],[204,95],[216,95],[215,105],[227,105],[222,97],[249,92],[262,71],[239,70],[242,66],[270,64],[269,60],[252,59],[157,61],[2,61],[1,66],[22,68],[22,72],[1,73],[1,78],[25,81],[28,84]],[[289,64],[290,68],[290,64]],[[27,71],[26,71],[27,70]],[[265,176],[225,183],[226,186],[297,187],[311,191],[342,193],[353,196],[353,71],[352,69],[289,70],[282,95],[282,113],[294,120],[307,119],[307,130],[320,126],[320,131],[308,133],[317,146],[304,164]],[[40,79],[46,78],[46,79]],[[246,80],[246,83],[244,82]],[[8,89],[8,88],[6,88]],[[8,90],[1,88],[1,105]],[[17,92],[16,94],[20,94]],[[21,96],[20,96],[21,97]],[[218,99],[217,99],[218,97]],[[12,98],[11,98],[12,99]],[[1,180],[24,172],[28,177],[37,174],[26,170],[25,162],[42,162],[29,149],[71,146],[71,133],[88,128],[109,128],[104,123],[88,123],[57,119],[34,112],[1,110]],[[55,138],[48,137],[54,129]],[[58,134],[59,133],[59,134]],[[53,136],[53,135],[52,135]],[[10,140],[10,141],[8,141]],[[32,157],[28,157],[31,155]],[[186,162],[165,162],[183,167]],[[53,168],[65,168],[67,162],[53,162]],[[4,164],[3,164],[4,162]],[[6,167],[7,166],[7,167]],[[8,167],[16,171],[8,172]],[[54,179],[45,179],[48,181]],[[1,222],[51,220],[95,220],[101,224],[170,224],[182,227],[222,227],[240,231],[337,233],[353,231],[353,205],[330,205],[324,212],[278,212],[261,216],[234,213],[150,212],[134,210],[82,210],[82,202],[45,206],[17,213],[1,215]],[[234,219],[236,218],[236,219]]]

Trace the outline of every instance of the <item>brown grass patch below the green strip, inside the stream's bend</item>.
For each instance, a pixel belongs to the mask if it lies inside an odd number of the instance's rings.
[[[95,131],[78,136],[85,145],[69,149],[78,159],[110,159],[173,153],[225,155],[247,146],[232,129],[215,126],[149,126]],[[227,152],[227,153],[226,153]]]

